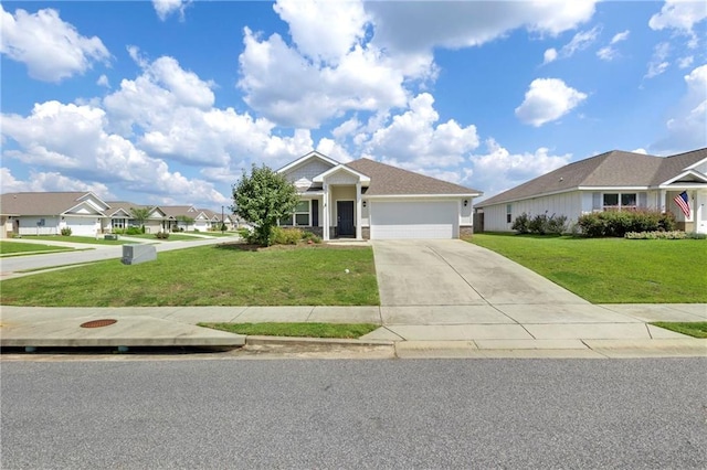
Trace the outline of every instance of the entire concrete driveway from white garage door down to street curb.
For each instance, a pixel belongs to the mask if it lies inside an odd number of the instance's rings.
[[[374,241],[381,320],[408,340],[651,338],[639,319],[594,306],[458,239]],[[391,327],[392,325],[392,327]]]

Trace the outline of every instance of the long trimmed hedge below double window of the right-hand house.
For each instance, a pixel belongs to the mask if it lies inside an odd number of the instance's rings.
[[[675,216],[657,211],[608,211],[584,214],[577,221],[581,235],[624,237],[634,232],[673,232]]]

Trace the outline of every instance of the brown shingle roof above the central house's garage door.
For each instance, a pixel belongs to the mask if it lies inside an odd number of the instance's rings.
[[[425,177],[401,168],[391,167],[366,158],[346,163],[352,170],[371,179],[366,195],[407,195],[407,194],[482,194],[478,190]]]

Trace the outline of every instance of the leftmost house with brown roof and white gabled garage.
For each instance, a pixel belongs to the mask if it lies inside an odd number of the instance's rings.
[[[57,235],[96,236],[110,206],[93,192],[27,192],[0,195],[0,237]]]

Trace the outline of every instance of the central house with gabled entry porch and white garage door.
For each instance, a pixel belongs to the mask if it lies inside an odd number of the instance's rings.
[[[477,190],[368,159],[339,163],[310,152],[277,170],[299,204],[281,225],[339,237],[457,238],[473,231]]]

